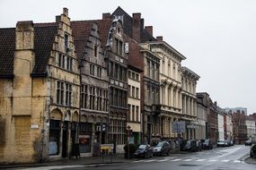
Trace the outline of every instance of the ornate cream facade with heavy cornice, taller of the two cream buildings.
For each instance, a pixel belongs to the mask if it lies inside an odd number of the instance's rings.
[[[185,59],[178,51],[163,41],[163,37],[156,37],[156,41],[149,42],[152,52],[160,58],[159,83],[160,102],[157,124],[158,140],[171,140],[174,137],[172,122],[181,119],[181,61]]]

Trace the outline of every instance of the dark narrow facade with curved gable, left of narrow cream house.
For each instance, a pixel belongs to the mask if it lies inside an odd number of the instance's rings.
[[[112,21],[106,44],[110,76],[109,141],[116,152],[123,152],[128,115],[128,55],[124,51],[125,41],[121,21]]]

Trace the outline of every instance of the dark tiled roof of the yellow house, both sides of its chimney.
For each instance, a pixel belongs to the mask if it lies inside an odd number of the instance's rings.
[[[35,65],[31,76],[46,76],[57,28],[57,23],[34,24]],[[15,28],[0,29],[0,78],[13,78],[14,51]]]

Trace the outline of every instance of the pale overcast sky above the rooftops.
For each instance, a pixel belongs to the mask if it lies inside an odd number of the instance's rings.
[[[201,77],[197,91],[218,106],[256,112],[255,0],[0,0],[0,27],[55,21],[63,7],[71,20],[101,19],[118,6],[141,13],[154,36],[187,57],[182,65]]]

